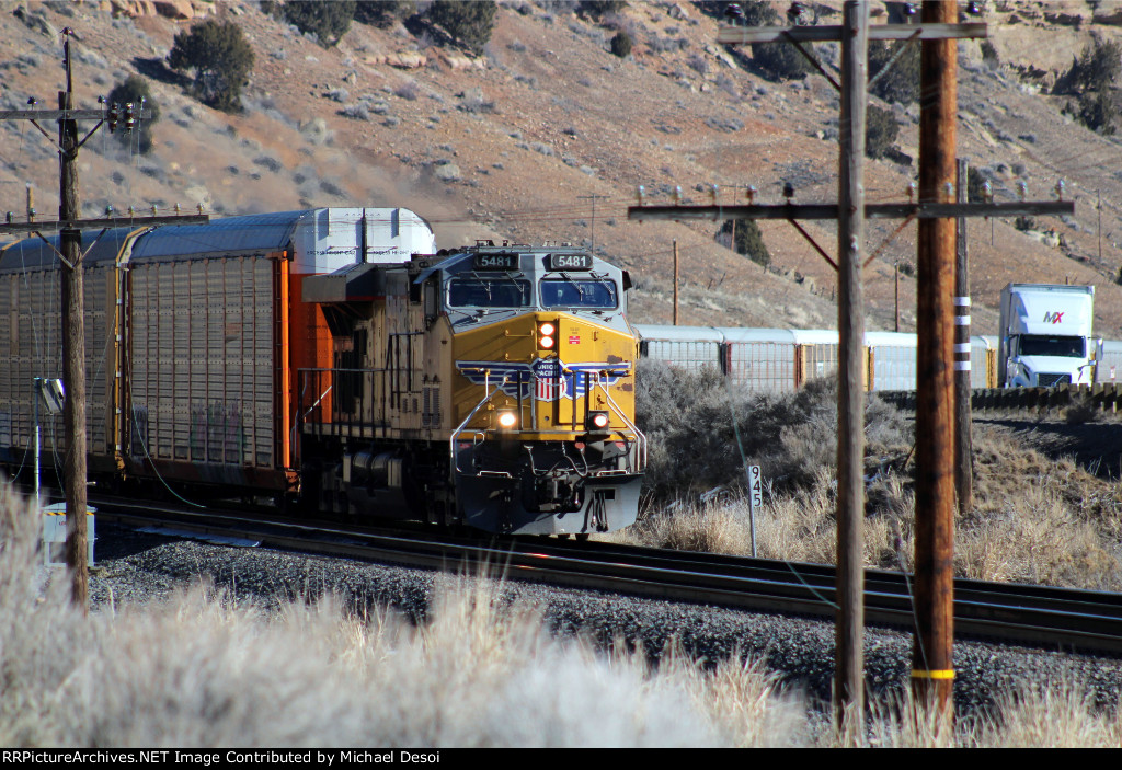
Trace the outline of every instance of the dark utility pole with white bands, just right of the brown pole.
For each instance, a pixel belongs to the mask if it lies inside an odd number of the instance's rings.
[[[958,161],[958,202],[969,203],[967,179],[969,166]],[[966,243],[966,220],[956,221],[955,244],[955,491],[958,512],[973,507],[974,449],[971,436],[971,275],[969,252]]]

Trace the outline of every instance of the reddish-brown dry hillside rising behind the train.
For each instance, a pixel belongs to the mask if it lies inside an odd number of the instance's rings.
[[[822,22],[839,19],[838,2],[809,4]],[[1098,332],[1122,338],[1122,287],[1114,282],[1122,263],[1122,146],[1072,122],[1060,113],[1064,99],[1049,95],[1084,46],[1122,33],[1122,7],[984,6],[1000,64],[983,63],[976,41],[959,46],[960,155],[991,173],[997,200],[1013,200],[1021,178],[1032,198],[1051,197],[1065,179],[1076,214],[1041,217],[1037,233],[1009,221],[971,223],[974,330],[995,333],[996,299],[1010,280],[1093,282]],[[730,203],[743,200],[748,184],[760,189],[757,201],[780,201],[790,180],[798,202],[835,200],[833,86],[820,75],[772,82],[738,66],[714,43],[718,20],[692,3],[633,1],[600,18],[572,7],[500,3],[484,55],[470,58],[401,25],[353,24],[324,49],[248,1],[3,3],[0,109],[24,109],[29,96],[53,106],[63,81],[57,30],[70,26],[79,36],[80,106],[141,73],[163,113],[150,155],[129,152],[104,131],[83,148],[88,215],[107,204],[123,212],[176,202],[203,203],[218,214],[404,205],[433,223],[442,247],[486,236],[595,239],[597,251],[636,279],[635,318],[653,323],[670,318],[677,240],[682,323],[834,327],[831,270],[790,225],[762,225],[773,257],[765,271],[718,245],[716,224],[641,224],[626,215],[638,185],[651,201],[669,200],[680,185],[700,203],[708,193],[699,189],[716,183]],[[236,21],[254,46],[239,114],[203,106],[163,65],[173,37],[193,22],[188,17],[202,16]],[[874,22],[884,19],[874,3]],[[609,52],[617,29],[636,41],[626,59]],[[820,53],[826,62],[837,58],[829,46]],[[918,108],[893,109],[898,147],[914,157]],[[0,124],[0,210],[21,213],[31,183],[40,216],[52,217],[55,158],[26,121]],[[916,173],[914,161],[870,161],[870,201],[904,200]],[[872,226],[870,248],[894,228]],[[833,250],[829,225],[808,229]],[[892,328],[893,263],[914,258],[910,225],[867,269],[871,328]],[[914,279],[902,276],[900,291],[902,330],[912,331]]]

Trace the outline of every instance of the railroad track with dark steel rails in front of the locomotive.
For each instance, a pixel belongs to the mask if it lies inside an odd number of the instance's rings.
[[[479,539],[426,530],[378,531],[240,512],[156,511],[98,503],[99,518],[182,534],[246,538],[273,547],[781,614],[833,618],[834,567],[552,538]],[[158,513],[158,516],[157,516]],[[865,570],[865,619],[911,629],[911,576]],[[1122,594],[958,578],[957,638],[1000,639],[1084,652],[1122,653]]]

